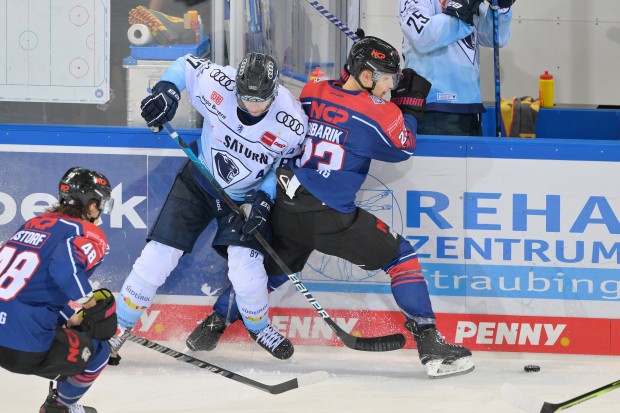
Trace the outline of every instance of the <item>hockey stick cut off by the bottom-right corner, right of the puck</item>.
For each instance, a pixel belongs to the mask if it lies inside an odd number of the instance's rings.
[[[549,403],[526,394],[512,384],[505,383],[501,388],[501,395],[506,402],[528,413],[553,413],[566,410],[576,404],[583,403],[618,388],[620,388],[620,380],[561,403]]]

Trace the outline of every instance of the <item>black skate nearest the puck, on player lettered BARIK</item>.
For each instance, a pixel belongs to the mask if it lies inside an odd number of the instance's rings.
[[[446,343],[434,325],[418,327],[415,321],[407,320],[405,327],[413,334],[420,361],[431,378],[456,376],[474,369],[471,351],[463,346]]]

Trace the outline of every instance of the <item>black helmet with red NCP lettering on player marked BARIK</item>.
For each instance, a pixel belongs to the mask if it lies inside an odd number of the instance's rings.
[[[351,47],[347,57],[347,68],[360,86],[359,75],[362,70],[372,72],[372,88],[364,87],[368,91],[374,89],[381,74],[395,75],[394,87],[396,87],[398,77],[400,77],[400,54],[388,42],[378,37],[367,36]]]

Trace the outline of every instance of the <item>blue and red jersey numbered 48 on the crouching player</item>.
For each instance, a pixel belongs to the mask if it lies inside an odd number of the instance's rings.
[[[88,295],[88,278],[107,252],[96,225],[59,213],[26,222],[0,248],[0,346],[47,351],[56,327]]]

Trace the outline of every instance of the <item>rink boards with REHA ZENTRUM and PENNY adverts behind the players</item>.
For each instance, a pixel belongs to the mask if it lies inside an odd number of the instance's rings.
[[[118,291],[184,161],[167,135],[143,129],[0,125],[0,239],[54,202],[69,167],[100,170],[115,210],[94,280]],[[620,354],[618,161],[615,141],[421,137],[413,160],[374,164],[357,202],[415,246],[448,338],[479,350]],[[142,333],[187,334],[227,286],[213,229],[160,288],[162,307],[145,316],[158,321]],[[402,328],[381,272],[315,254],[302,280],[345,329]],[[338,345],[293,289],[272,304],[296,344]]]

